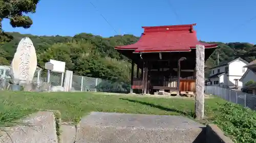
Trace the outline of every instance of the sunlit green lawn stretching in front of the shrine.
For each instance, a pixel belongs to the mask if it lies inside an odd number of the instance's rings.
[[[206,99],[206,111],[216,109],[218,98]],[[97,93],[0,92],[0,124],[8,124],[37,110],[59,110],[62,121],[78,122],[91,111],[194,116],[195,101]],[[207,115],[207,112],[206,112]]]

